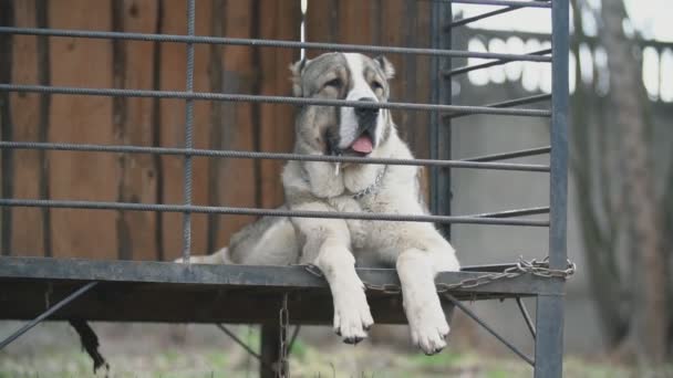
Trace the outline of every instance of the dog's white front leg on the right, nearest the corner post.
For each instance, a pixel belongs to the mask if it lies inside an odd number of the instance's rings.
[[[434,279],[439,271],[458,270],[458,261],[451,252],[410,249],[397,258],[397,274],[412,340],[426,355],[434,355],[446,346],[449,328]]]

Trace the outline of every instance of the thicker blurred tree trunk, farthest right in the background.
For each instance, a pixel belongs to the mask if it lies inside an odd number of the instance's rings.
[[[666,349],[666,255],[654,193],[648,143],[648,97],[636,57],[639,48],[623,32],[622,1],[603,1],[602,42],[610,70],[609,101],[614,130],[621,135],[624,217],[631,282],[630,334],[627,350],[640,361],[662,363]]]

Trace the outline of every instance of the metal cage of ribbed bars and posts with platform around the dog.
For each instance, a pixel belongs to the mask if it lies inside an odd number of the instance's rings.
[[[127,203],[76,200],[0,199],[0,206],[49,207],[71,209],[114,209],[131,211],[165,211],[183,214],[183,255],[190,255],[191,214],[248,214],[308,218],[344,218],[387,221],[435,222],[445,235],[452,223],[506,224],[549,228],[548,262],[519,262],[508,265],[467,266],[460,272],[441,273],[436,280],[447,309],[454,305],[464,311],[495,335],[514,353],[534,366],[536,377],[562,375],[563,347],[563,285],[569,270],[566,253],[567,159],[568,159],[568,0],[434,0],[432,4],[432,49],[411,46],[380,46],[334,43],[313,43],[261,39],[237,39],[195,35],[195,0],[187,1],[187,35],[145,34],[127,32],[95,32],[0,25],[2,34],[68,36],[80,39],[108,39],[174,42],[186,44],[187,82],[185,91],[144,91],[93,87],[19,85],[0,83],[1,93],[70,94],[83,96],[180,98],[186,102],[184,147],[103,146],[68,143],[39,143],[0,140],[0,149],[77,150],[89,153],[175,155],[184,157],[184,203]],[[454,21],[452,4],[470,3],[500,7],[482,15]],[[528,54],[477,53],[452,50],[452,29],[488,17],[518,9],[536,7],[550,11],[552,48]],[[301,156],[260,151],[195,149],[193,144],[194,103],[257,102],[282,104],[323,104],[348,106],[348,101],[306,99],[284,96],[194,92],[194,50],[196,44],[273,46],[282,49],[314,49],[329,51],[418,54],[432,56],[432,104],[385,103],[358,106],[383,107],[402,111],[431,112],[431,159],[396,160]],[[454,57],[480,57],[483,64],[454,67]],[[451,77],[474,70],[515,61],[540,62],[552,65],[551,95],[536,95],[479,106],[452,105]],[[517,107],[538,102],[550,102],[550,109]],[[452,160],[452,118],[472,114],[498,116],[530,116],[550,118],[550,145],[506,154]],[[550,154],[550,165],[499,162],[515,157]],[[431,168],[431,206],[434,216],[297,212],[258,208],[194,206],[191,202],[193,158],[279,159],[317,161],[356,161],[366,164],[418,165]],[[449,168],[498,169],[536,171],[549,175],[549,207],[504,212],[453,216],[451,213]],[[549,213],[548,220],[518,217]],[[393,270],[359,269],[359,275],[369,288],[372,313],[377,323],[405,323]],[[331,319],[331,300],[327,283],[304,266],[237,266],[183,265],[169,262],[87,261],[41,258],[0,258],[0,318],[30,319],[30,322],[0,342],[0,349],[40,322],[50,318],[71,321],[82,333],[82,319],[112,322],[169,322],[169,323],[258,323],[262,330],[262,376],[273,374],[271,365],[279,358],[277,345],[286,345],[287,334],[278,325],[278,311],[289,309],[289,323],[327,324]],[[520,301],[537,298],[536,321],[532,322]],[[51,298],[44,304],[45,297]],[[529,357],[505,340],[480,321],[462,300],[516,298],[521,314],[535,338],[535,356]],[[148,302],[152,298],[152,302]],[[311,303],[310,306],[308,303]],[[152,303],[152,305],[148,305]],[[224,304],[229,304],[225,306]],[[235,304],[235,305],[231,305]],[[198,308],[198,309],[195,309]],[[77,323],[80,322],[80,323]],[[89,328],[90,329],[90,328]],[[226,328],[222,328],[227,332]],[[85,330],[84,330],[85,332]],[[95,338],[95,337],[94,337]],[[86,347],[96,361],[95,344]],[[92,346],[93,345],[93,346]],[[286,349],[287,351],[287,349]],[[100,356],[99,356],[100,357]],[[100,363],[100,358],[99,358]],[[97,364],[99,364],[97,363]],[[100,364],[99,364],[100,365]],[[282,370],[282,369],[280,369]],[[278,371],[276,371],[278,372]],[[281,371],[282,372],[282,371]]]

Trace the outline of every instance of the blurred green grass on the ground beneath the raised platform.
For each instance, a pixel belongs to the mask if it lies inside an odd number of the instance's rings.
[[[239,336],[255,345],[257,332]],[[111,377],[133,378],[238,378],[257,376],[258,367],[237,346],[228,348],[186,349],[177,347],[147,350],[136,355],[106,356]],[[386,347],[330,345],[319,348],[298,339],[291,358],[292,377],[530,377],[531,368],[515,358],[485,356],[475,350],[446,350],[436,356],[395,351]],[[103,375],[99,375],[102,377]],[[673,377],[673,367],[639,371],[628,367],[589,363],[577,357],[565,361],[569,378]],[[80,378],[94,377],[92,363],[80,350],[51,350],[32,356],[0,354],[0,378]]]

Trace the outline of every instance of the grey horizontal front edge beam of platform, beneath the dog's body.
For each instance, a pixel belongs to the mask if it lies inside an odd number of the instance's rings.
[[[273,245],[269,245],[273,249]],[[95,251],[92,251],[95,252]],[[394,269],[356,269],[363,282],[373,286],[400,285]],[[483,272],[441,272],[436,284],[454,284],[482,276]],[[189,285],[220,285],[225,287],[266,287],[287,292],[292,288],[328,288],[323,277],[317,276],[304,265],[232,265],[232,264],[182,264],[157,261],[102,261],[84,259],[49,258],[0,258],[0,282],[7,280],[100,281],[105,283],[165,283],[172,292],[184,290],[194,293]],[[524,274],[477,287],[456,288],[452,293],[483,294],[561,294],[558,281]],[[186,284],[183,288],[174,284]],[[43,286],[42,286],[43,287]],[[206,288],[206,287],[203,287]],[[221,288],[221,287],[216,287]],[[329,292],[328,292],[329,293]],[[227,300],[227,295],[224,296]],[[1,297],[0,297],[1,300]],[[331,300],[330,300],[331,301]],[[43,295],[42,295],[43,303]],[[260,301],[256,301],[260,303]],[[331,302],[330,302],[331,303]],[[205,304],[205,303],[204,303]],[[3,308],[0,306],[0,313]],[[329,309],[331,312],[331,308]],[[194,314],[194,311],[189,313]],[[271,314],[276,318],[278,312]]]

